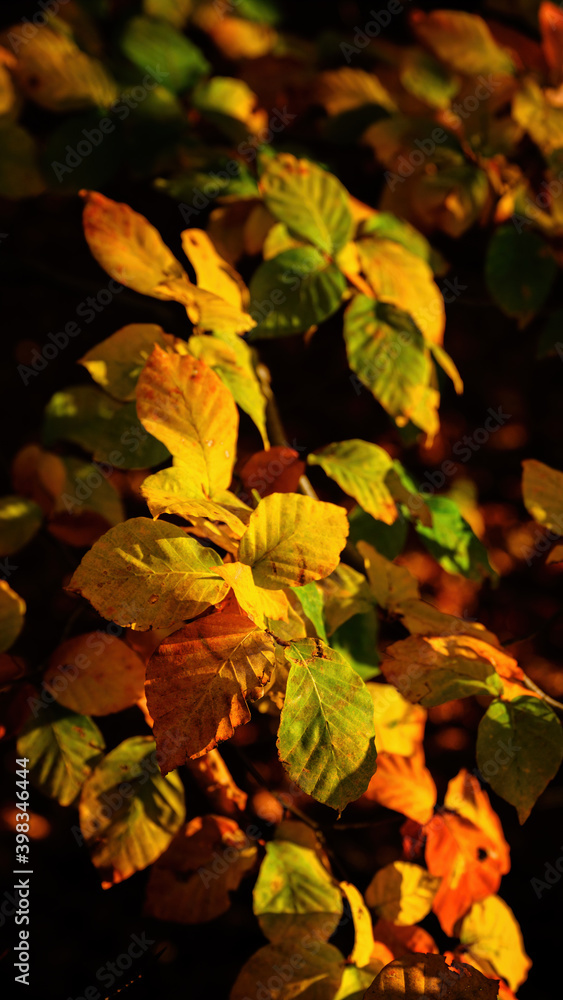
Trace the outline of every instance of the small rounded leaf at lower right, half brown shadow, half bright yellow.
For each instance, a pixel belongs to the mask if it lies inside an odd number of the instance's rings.
[[[408,927],[428,916],[440,882],[420,865],[394,861],[373,877],[366,889],[366,903],[384,920]]]

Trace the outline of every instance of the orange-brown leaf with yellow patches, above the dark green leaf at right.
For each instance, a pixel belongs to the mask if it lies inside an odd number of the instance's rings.
[[[432,708],[472,694],[502,694],[496,653],[468,635],[411,635],[387,647],[381,669],[413,705]]]

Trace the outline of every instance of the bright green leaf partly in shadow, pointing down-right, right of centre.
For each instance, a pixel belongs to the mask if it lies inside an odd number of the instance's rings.
[[[427,497],[426,504],[432,511],[432,525],[427,527],[417,522],[415,530],[440,566],[469,580],[496,578],[485,546],[462,517],[457,504],[449,497]]]

